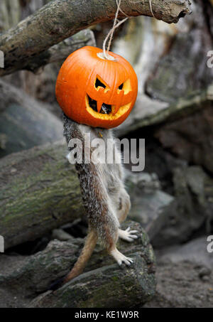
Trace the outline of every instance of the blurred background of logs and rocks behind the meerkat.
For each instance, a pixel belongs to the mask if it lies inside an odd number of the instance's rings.
[[[47,3],[1,0],[0,32]],[[126,166],[129,218],[148,232],[157,259],[157,292],[146,307],[213,306],[213,254],[207,251],[207,237],[213,235],[213,69],[207,67],[213,1],[194,0],[192,11],[170,25],[130,18],[111,47],[138,75],[136,105],[116,136],[146,140],[144,171],[131,173],[131,164]],[[90,28],[82,45],[96,41],[102,47],[111,24]],[[0,235],[7,237],[2,267],[11,256],[17,264],[54,238],[87,232],[75,171],[65,161],[62,113],[55,100],[64,59],[0,80]]]

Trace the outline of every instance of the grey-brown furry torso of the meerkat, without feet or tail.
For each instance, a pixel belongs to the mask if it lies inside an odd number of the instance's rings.
[[[70,139],[80,139],[84,146],[84,134],[94,138],[113,139],[112,131],[77,124],[64,114],[64,135],[67,144]],[[115,149],[115,153],[119,151]],[[84,153],[84,148],[83,148]],[[115,247],[119,224],[125,220],[130,208],[130,199],[124,188],[124,169],[121,164],[75,164],[82,189],[84,208],[87,211],[89,227],[97,232],[99,239],[110,252]]]

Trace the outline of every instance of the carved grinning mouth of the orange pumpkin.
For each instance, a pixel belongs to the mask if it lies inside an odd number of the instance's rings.
[[[118,112],[114,114],[114,110],[116,108],[115,105],[103,103],[100,112],[97,112],[96,100],[93,100],[91,97],[89,97],[89,95],[86,95],[85,102],[86,102],[87,112],[89,112],[89,114],[92,114],[93,117],[96,117],[98,119],[106,119],[106,120],[118,119],[123,114],[125,114],[129,110],[129,107],[131,106],[131,102],[126,105],[123,105],[119,108]]]

